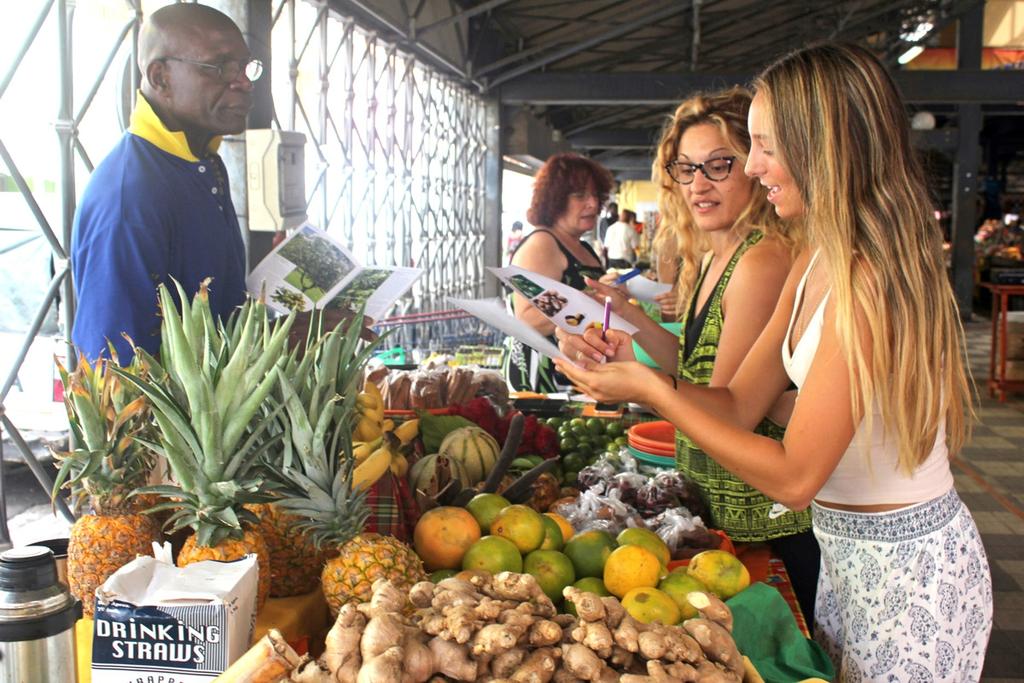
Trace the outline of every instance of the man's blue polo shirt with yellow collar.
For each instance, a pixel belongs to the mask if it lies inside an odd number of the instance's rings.
[[[75,215],[72,340],[80,353],[105,355],[109,339],[127,362],[122,332],[156,353],[157,286],[173,292],[172,278],[189,298],[212,278],[214,315],[226,317],[244,301],[245,247],[219,143],[197,159],[184,134],[168,130],[138,95],[129,130],[96,167]]]

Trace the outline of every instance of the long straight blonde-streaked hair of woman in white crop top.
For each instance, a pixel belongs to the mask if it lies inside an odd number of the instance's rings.
[[[956,453],[972,412],[964,329],[896,85],[866,49],[823,43],[771,65],[755,87],[827,264],[855,420],[870,428],[879,407],[904,472],[928,457],[943,421]]]

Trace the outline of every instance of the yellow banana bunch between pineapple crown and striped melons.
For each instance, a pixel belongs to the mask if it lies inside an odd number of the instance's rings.
[[[355,403],[360,417],[352,432],[355,459],[352,485],[364,490],[370,488],[388,470],[396,476],[406,476],[409,461],[402,451],[420,433],[420,421],[408,420],[395,426],[393,420],[385,420],[384,400],[373,382],[367,382]]]

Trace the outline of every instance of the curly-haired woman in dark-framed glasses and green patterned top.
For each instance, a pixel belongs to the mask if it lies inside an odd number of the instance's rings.
[[[792,226],[775,216],[742,167],[751,148],[743,88],[682,102],[657,147],[662,225],[672,229],[683,264],[677,337],[616,296],[614,308],[640,331],[637,342],[667,372],[687,382],[722,387],[767,325],[793,263]],[[615,296],[595,285],[599,294]],[[577,351],[581,352],[582,347]],[[584,352],[594,352],[589,348]],[[782,438],[785,415],[757,433]],[[781,556],[807,621],[813,623],[819,554],[807,511],[773,510],[773,501],[721,467],[681,431],[676,463],[700,487],[711,519],[740,543],[768,542]]]

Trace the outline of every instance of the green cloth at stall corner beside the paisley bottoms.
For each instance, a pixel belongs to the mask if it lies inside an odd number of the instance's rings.
[[[732,635],[766,683],[792,683],[836,676],[828,655],[804,637],[781,594],[753,584],[726,603],[732,609]]]

